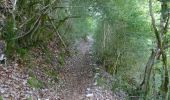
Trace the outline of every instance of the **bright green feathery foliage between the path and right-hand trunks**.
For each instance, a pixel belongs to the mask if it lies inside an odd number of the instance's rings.
[[[150,49],[154,47],[148,9],[145,9],[148,2],[146,0],[72,0],[70,4],[73,6],[70,10],[72,14],[82,16],[81,19],[72,21],[72,23],[76,22],[73,27],[77,29],[73,28],[71,35],[85,37],[85,32],[94,34],[93,50],[98,58],[97,62],[106,67],[112,75],[116,73],[119,77],[129,77],[118,79],[121,85],[115,83],[114,86],[135,91],[142,80],[141,75]],[[128,83],[131,79],[135,84]],[[99,83],[103,84],[104,81],[101,79]]]

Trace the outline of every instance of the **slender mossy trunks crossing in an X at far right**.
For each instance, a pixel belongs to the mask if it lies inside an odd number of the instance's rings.
[[[168,65],[167,65],[167,54],[166,54],[166,45],[167,45],[167,30],[169,25],[169,14],[166,14],[168,10],[167,2],[161,1],[161,20],[160,20],[160,30],[158,31],[155,23],[155,18],[152,10],[152,0],[149,0],[149,12],[151,16],[151,22],[154,29],[154,33],[157,40],[157,49],[152,50],[151,56],[146,64],[145,74],[143,82],[141,83],[141,88],[143,89],[145,96],[149,90],[149,80],[151,75],[151,70],[154,65],[155,60],[158,57],[162,57],[162,67],[164,70],[163,79],[161,84],[161,95],[163,100],[168,100],[168,85],[169,85],[169,76],[168,76]]]

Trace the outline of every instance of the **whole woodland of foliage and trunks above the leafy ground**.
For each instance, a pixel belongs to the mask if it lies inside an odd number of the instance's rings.
[[[0,38],[7,57],[22,63],[33,48],[50,61],[46,46],[55,39],[62,65],[90,35],[96,64],[116,79],[112,91],[169,100],[169,8],[169,0],[1,0]]]

